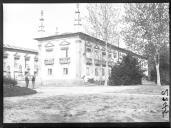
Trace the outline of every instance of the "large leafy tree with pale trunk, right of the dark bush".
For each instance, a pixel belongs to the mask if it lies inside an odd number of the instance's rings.
[[[126,4],[124,39],[129,48],[155,62],[157,84],[160,82],[160,51],[169,43],[168,3]]]

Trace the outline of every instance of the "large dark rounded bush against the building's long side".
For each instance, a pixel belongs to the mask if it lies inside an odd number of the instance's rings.
[[[109,85],[137,85],[142,84],[143,77],[137,59],[131,55],[123,57],[121,63],[118,63],[112,68],[111,75],[109,76]]]

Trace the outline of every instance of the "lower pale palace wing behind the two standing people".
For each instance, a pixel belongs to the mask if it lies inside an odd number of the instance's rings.
[[[3,75],[24,80],[25,73],[38,73],[38,52],[32,49],[3,45]]]

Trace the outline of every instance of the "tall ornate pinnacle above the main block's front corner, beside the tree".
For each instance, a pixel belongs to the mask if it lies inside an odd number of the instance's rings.
[[[75,20],[74,20],[74,26],[75,26],[75,30],[76,32],[80,31],[80,27],[81,27],[81,17],[80,17],[80,10],[79,10],[79,3],[77,3],[76,5],[76,11],[75,11]]]

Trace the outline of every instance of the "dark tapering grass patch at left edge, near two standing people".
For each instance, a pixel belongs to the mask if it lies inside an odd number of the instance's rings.
[[[14,96],[24,96],[37,93],[35,90],[26,87],[13,86],[9,85],[3,86],[3,95],[4,97],[14,97]]]

